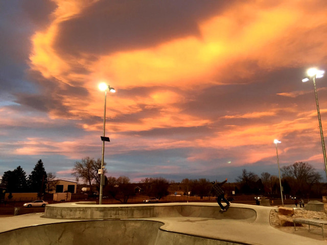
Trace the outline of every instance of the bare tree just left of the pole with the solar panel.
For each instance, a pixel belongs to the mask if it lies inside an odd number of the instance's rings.
[[[103,164],[104,166],[106,163]],[[73,174],[75,177],[82,179],[84,183],[88,183],[90,186],[90,193],[92,193],[92,183],[96,183],[100,186],[100,176],[98,169],[101,168],[101,159],[94,160],[94,158],[85,157],[79,162],[75,162],[73,168]],[[104,174],[106,169],[103,169]]]

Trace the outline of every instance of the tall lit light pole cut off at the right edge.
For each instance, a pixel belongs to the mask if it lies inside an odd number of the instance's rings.
[[[317,70],[316,68],[310,68],[307,71],[307,74],[308,74],[309,77],[302,79],[302,82],[308,82],[308,81],[310,81],[310,79],[312,79],[312,81],[313,81],[313,87],[314,87],[315,96],[316,96],[316,106],[317,106],[317,113],[318,113],[318,121],[319,121],[319,130],[320,130],[323,161],[324,161],[324,164],[325,164],[324,168],[325,168],[326,178],[327,178],[327,157],[326,157],[325,141],[323,139],[323,133],[322,133],[321,118],[320,118],[319,103],[318,103],[318,95],[317,95],[317,89],[316,89],[316,78],[322,78],[323,74],[324,74],[324,70]]]

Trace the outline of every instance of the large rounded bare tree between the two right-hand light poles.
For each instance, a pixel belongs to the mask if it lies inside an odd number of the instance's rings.
[[[295,194],[309,193],[312,185],[321,180],[320,174],[307,162],[295,162],[282,167],[281,171]]]

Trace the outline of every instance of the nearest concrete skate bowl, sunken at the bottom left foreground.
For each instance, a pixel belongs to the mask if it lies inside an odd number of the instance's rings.
[[[151,220],[87,220],[39,225],[0,233],[0,244],[248,244],[161,230]]]

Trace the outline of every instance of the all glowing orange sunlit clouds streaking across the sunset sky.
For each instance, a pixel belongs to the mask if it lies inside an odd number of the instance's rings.
[[[197,36],[167,39],[135,50],[116,50],[101,55],[81,50],[75,57],[56,51],[54,43],[60,35],[60,25],[64,25],[65,20],[79,18],[84,13],[83,10],[87,10],[96,2],[56,0],[58,8],[51,16],[53,21],[49,28],[36,32],[32,37],[33,51],[30,60],[32,69],[39,71],[44,78],[57,81],[61,89],[65,89],[63,84],[69,84],[87,90],[86,97],[59,94],[63,105],[69,108],[71,119],[102,116],[104,94],[98,90],[97,85],[100,80],[105,80],[115,87],[118,93],[107,96],[107,128],[116,132],[111,137],[119,136],[124,139],[128,136],[119,133],[126,131],[134,131],[137,137],[137,131],[172,126],[211,127],[214,123],[212,119],[191,114],[192,112],[186,113],[180,107],[180,103],[190,102],[192,98],[185,97],[182,92],[173,91],[174,88],[180,91],[196,91],[199,87],[206,88],[213,84],[241,83],[238,79],[232,80],[230,77],[254,77],[258,66],[264,70],[271,70],[283,66],[296,67],[325,59],[322,51],[327,48],[326,33],[316,34],[319,28],[326,25],[327,19],[325,9],[320,9],[316,1],[308,3],[281,1],[271,5],[266,1],[238,2],[224,12],[198,22]],[[311,14],[313,11],[314,16]],[[305,51],[309,46],[310,52]],[[250,67],[251,62],[257,67]],[[220,79],[217,79],[218,75]],[[137,87],[157,89],[138,95]],[[136,91],[130,97],[122,97],[119,95],[119,89]],[[277,94],[295,98],[305,92]],[[138,114],[150,108],[157,111],[151,115],[145,114],[135,121],[110,120],[122,115]],[[245,113],[222,115],[219,120],[275,117],[279,112],[288,110],[296,112],[292,108],[270,111],[248,109]],[[173,141],[160,138],[151,142],[148,139],[138,139],[138,145],[131,143],[129,147],[153,150],[192,146],[206,148],[209,145],[213,149],[221,150],[238,146],[269,145],[261,148],[261,153],[249,150],[244,154],[244,162],[253,162],[274,154],[270,152],[270,144],[275,137],[312,129],[310,117],[314,116],[314,113],[314,111],[310,115],[307,112],[298,113],[297,116],[300,118],[296,124],[291,119],[284,119],[278,124],[275,122],[247,126],[235,124],[202,139]],[[51,111],[50,117],[54,119],[63,116],[57,111]],[[6,123],[9,124],[10,121]],[[102,121],[91,123],[81,120],[77,125],[86,131],[101,132]],[[87,142],[87,139],[85,141]],[[71,141],[60,143],[43,141],[40,144],[38,139],[32,138],[24,144],[23,148],[17,149],[17,154],[37,155],[52,152],[80,158],[79,153],[72,154],[72,149],[76,149],[77,144]],[[118,146],[123,145],[123,142],[118,143]],[[123,147],[121,151],[128,150]],[[189,156],[190,161],[194,159],[207,159],[207,156],[205,154]]]

